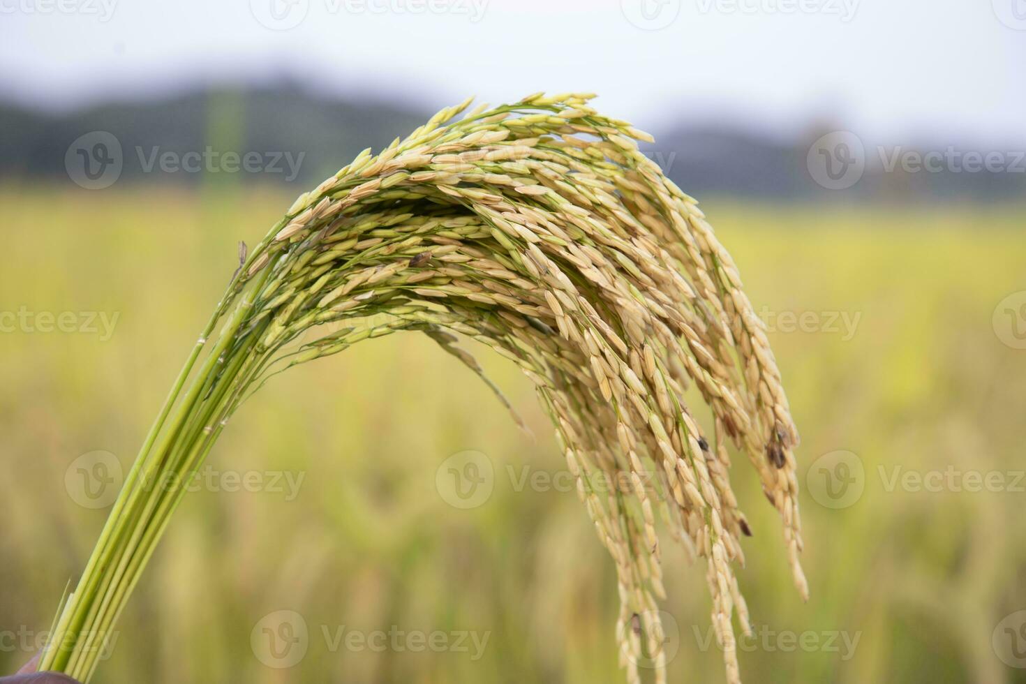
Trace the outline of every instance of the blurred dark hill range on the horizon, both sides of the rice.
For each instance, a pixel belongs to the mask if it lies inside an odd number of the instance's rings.
[[[70,113],[36,112],[0,103],[0,179],[111,178],[148,183],[270,180],[306,188],[326,177],[365,147],[379,150],[424,123],[431,112],[367,98],[339,99],[297,84],[207,88],[162,99],[112,102]],[[654,131],[642,150],[685,192],[698,197],[735,195],[782,200],[873,198],[992,200],[1026,196],[1026,161],[1003,156],[1007,170],[964,168],[885,171],[896,152],[863,149],[853,157],[846,142],[810,149],[830,130],[808,139],[774,142],[721,124]],[[861,144],[860,144],[861,145]],[[944,147],[937,147],[944,150]],[[965,151],[960,151],[963,154]],[[978,154],[987,151],[978,151]],[[829,190],[828,171],[843,192]],[[829,164],[820,169],[815,164]],[[864,170],[862,167],[864,166]],[[116,168],[115,168],[116,167]],[[105,169],[113,171],[101,177]],[[838,176],[840,177],[840,176]],[[851,185],[843,183],[851,180]]]

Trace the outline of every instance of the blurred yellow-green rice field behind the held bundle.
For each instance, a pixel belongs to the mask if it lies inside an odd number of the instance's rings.
[[[107,515],[69,496],[66,471],[92,450],[127,470],[235,268],[236,241],[259,239],[295,194],[234,183],[89,192],[25,176],[0,186],[2,308],[120,315],[109,340],[0,334],[0,672],[32,655],[18,633],[49,626]],[[1026,207],[717,196],[703,206],[757,311],[819,321],[770,335],[803,438],[807,604],[750,467],[738,458],[733,472],[755,532],[740,572],[758,635],[743,642],[746,681],[1026,681],[992,644],[1002,618],[1026,608],[1026,483],[887,486],[899,467],[1024,468],[1026,352],[1002,343],[992,315],[1026,288]],[[852,334],[841,316],[857,320]],[[563,460],[526,378],[472,349],[532,436],[415,334],[359,345],[258,394],[209,464],[302,474],[295,497],[190,494],[95,681],[622,681],[613,563],[575,492],[520,486],[524,473],[556,477]],[[494,490],[460,510],[436,473],[468,449],[490,460]],[[837,450],[857,454],[864,490],[832,509],[805,476]],[[704,567],[664,541],[673,681],[721,681]],[[304,616],[310,644],[276,670],[254,656],[250,633],[283,609]],[[343,626],[487,641],[476,659],[469,640],[468,652],[332,650],[322,628]]]

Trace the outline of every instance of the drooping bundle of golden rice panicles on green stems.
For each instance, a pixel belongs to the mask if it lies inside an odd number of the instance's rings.
[[[783,518],[794,581],[798,442],[764,329],[697,202],[644,157],[650,137],[536,93],[442,110],[301,196],[248,253],[129,472],[40,670],[88,681],[186,491],[236,409],[273,374],[400,330],[476,339],[517,364],[552,417],[617,566],[620,660],[666,679],[657,512],[707,561],[726,679],[740,681],[734,564],[751,534],[727,477],[744,451]],[[453,334],[457,333],[457,334]],[[708,404],[704,432],[684,404]],[[632,486],[609,491],[597,479]]]

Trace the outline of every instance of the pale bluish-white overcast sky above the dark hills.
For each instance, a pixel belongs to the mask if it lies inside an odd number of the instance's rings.
[[[432,108],[591,90],[644,128],[1007,144],[1024,67],[1026,0],[0,0],[0,92],[47,105],[292,75]]]

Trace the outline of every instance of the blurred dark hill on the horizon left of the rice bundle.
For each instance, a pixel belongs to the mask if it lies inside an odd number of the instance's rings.
[[[328,99],[297,86],[210,89],[63,115],[0,105],[0,176],[67,178],[69,147],[101,131],[120,147],[121,178],[189,183],[259,176],[309,185],[363,148],[388,145],[427,116],[390,104]]]

